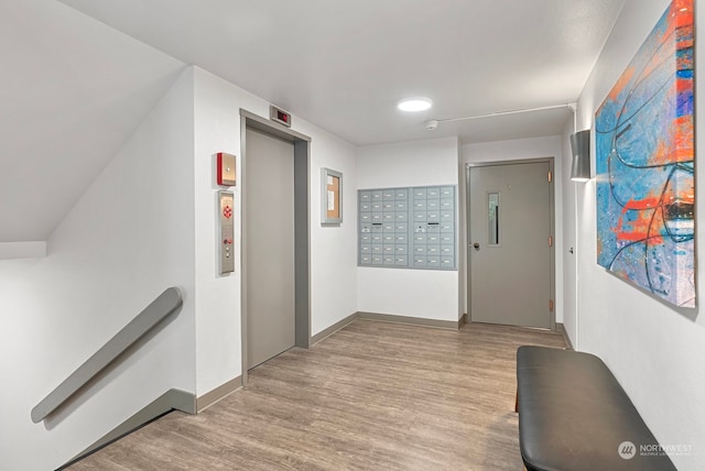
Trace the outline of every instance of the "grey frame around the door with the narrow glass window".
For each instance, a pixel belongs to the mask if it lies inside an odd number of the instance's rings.
[[[470,245],[473,244],[470,240],[470,226],[471,226],[471,213],[470,213],[470,198],[471,198],[471,185],[470,185],[470,168],[473,167],[489,167],[489,166],[506,166],[506,165],[520,165],[520,164],[536,164],[536,163],[547,163],[549,172],[551,172],[552,179],[551,185],[549,186],[549,218],[551,234],[553,236],[553,244],[550,250],[550,296],[553,300],[553,309],[550,310],[550,326],[551,330],[556,330],[555,322],[555,311],[557,309],[557,304],[555,302],[555,247],[556,247],[556,234],[555,234],[555,157],[539,157],[539,158],[520,158],[513,161],[497,161],[497,162],[471,162],[465,164],[465,256],[466,256],[466,265],[465,265],[465,275],[466,275],[466,303],[467,303],[467,317],[468,322],[473,321],[473,251],[470,250]]]

